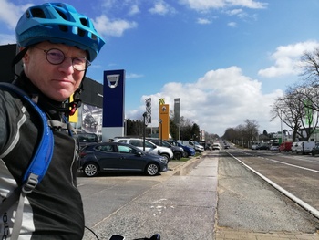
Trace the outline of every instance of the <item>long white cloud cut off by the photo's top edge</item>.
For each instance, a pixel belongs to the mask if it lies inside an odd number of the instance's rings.
[[[209,11],[215,8],[242,6],[247,8],[265,8],[267,4],[254,0],[180,0],[180,4],[188,5],[196,11]]]

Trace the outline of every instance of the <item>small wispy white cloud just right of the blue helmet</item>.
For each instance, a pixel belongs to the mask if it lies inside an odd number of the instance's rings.
[[[125,30],[138,26],[136,22],[129,22],[123,19],[111,21],[105,15],[98,16],[93,21],[98,33],[113,37],[121,37]]]

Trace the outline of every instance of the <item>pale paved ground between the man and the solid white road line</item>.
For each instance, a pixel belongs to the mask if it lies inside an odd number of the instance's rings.
[[[160,176],[78,177],[87,226],[99,239],[160,233],[166,240],[211,240],[217,229],[314,233],[318,219],[225,151],[205,151]],[[97,239],[86,231],[87,240]]]

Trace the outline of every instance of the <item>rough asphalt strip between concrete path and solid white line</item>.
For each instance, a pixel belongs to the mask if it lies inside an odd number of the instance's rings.
[[[243,167],[242,163],[226,152],[221,152],[219,159],[219,227],[292,233],[315,233],[319,229],[317,218]],[[263,167],[269,169],[269,165]]]

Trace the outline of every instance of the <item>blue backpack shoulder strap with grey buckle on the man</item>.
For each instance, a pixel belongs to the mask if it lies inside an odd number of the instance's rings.
[[[39,109],[36,103],[34,103],[22,89],[15,87],[13,84],[3,82],[0,83],[0,89],[14,92],[20,97],[20,99],[26,102],[26,104],[31,105],[36,110],[36,114],[40,117],[42,122],[41,127],[43,129],[41,141],[39,142],[36,153],[25,172],[23,183],[21,186],[17,187],[13,193],[9,194],[9,196],[0,204],[0,214],[5,214],[5,211],[18,201],[18,207],[15,214],[15,224],[11,235],[11,239],[15,240],[19,236],[22,225],[26,194],[31,193],[36,188],[36,185],[40,183],[46,175],[46,170],[52,159],[54,138],[53,132],[48,126],[46,114]]]

